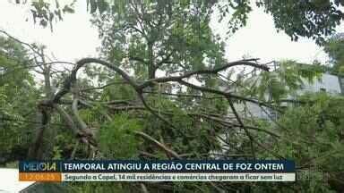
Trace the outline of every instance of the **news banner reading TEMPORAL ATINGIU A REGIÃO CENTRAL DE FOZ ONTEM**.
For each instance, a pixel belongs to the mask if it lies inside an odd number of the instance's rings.
[[[19,180],[295,181],[289,160],[21,161]]]

